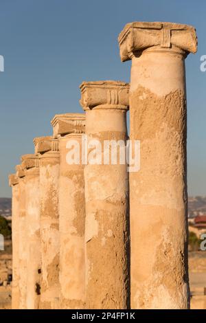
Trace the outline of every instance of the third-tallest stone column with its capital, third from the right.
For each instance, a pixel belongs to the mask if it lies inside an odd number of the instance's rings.
[[[84,165],[81,161],[69,162],[67,153],[77,145],[81,155],[85,115],[55,115],[52,125],[60,151],[60,308],[82,309],[85,302]]]

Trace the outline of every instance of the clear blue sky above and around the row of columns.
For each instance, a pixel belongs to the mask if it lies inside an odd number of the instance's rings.
[[[132,21],[194,25],[198,53],[186,60],[188,191],[206,195],[205,0],[0,0],[0,197],[10,197],[8,174],[33,153],[33,138],[52,133],[56,113],[81,112],[82,80],[130,79],[117,36]]]

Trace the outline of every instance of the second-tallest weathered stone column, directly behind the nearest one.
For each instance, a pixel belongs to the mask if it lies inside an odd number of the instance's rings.
[[[84,168],[86,308],[128,309],[127,165],[125,158],[124,164],[119,162],[120,149],[116,164],[104,164],[102,149],[105,140],[109,144],[113,140],[117,146],[122,141],[125,153],[129,85],[115,81],[83,82],[80,89],[89,147],[89,164]],[[92,146],[96,153],[99,151],[99,164],[91,163],[92,155],[97,157]]]

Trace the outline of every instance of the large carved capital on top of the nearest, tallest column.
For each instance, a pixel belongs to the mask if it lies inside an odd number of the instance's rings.
[[[127,23],[118,41],[122,62],[133,58],[135,52],[144,50],[176,52],[185,56],[197,50],[195,28],[180,23]]]

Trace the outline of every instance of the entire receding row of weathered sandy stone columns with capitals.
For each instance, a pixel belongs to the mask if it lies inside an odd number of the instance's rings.
[[[9,177],[12,309],[190,309],[185,58],[196,30],[134,22],[118,41],[130,84],[82,82],[84,112],[55,115]]]

